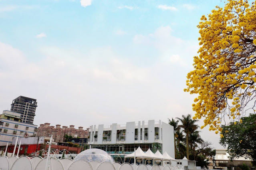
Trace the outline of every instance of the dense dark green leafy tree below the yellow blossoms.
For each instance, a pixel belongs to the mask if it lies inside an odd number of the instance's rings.
[[[222,128],[220,144],[228,146],[230,159],[244,156],[256,164],[256,115],[242,117],[241,121],[231,122]]]

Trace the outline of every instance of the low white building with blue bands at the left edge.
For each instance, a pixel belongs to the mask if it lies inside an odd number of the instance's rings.
[[[18,136],[32,136],[37,132],[37,125],[21,122],[20,113],[3,111],[0,115],[0,146],[12,144],[12,139]]]

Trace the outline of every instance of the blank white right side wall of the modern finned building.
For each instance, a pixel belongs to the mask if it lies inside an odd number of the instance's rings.
[[[162,122],[162,130],[162,152],[164,153],[166,151],[172,158],[175,158],[173,126]]]

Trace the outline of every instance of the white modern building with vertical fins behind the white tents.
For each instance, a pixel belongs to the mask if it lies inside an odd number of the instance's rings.
[[[87,142],[91,148],[110,154],[130,154],[140,146],[144,152],[150,148],[153,152],[159,150],[163,154],[166,151],[175,157],[173,126],[160,120],[127,122],[125,125],[92,125]]]

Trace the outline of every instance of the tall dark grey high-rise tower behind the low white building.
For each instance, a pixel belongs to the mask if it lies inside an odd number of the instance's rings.
[[[33,124],[36,114],[36,99],[19,96],[12,101],[11,111],[20,113],[22,123]]]

